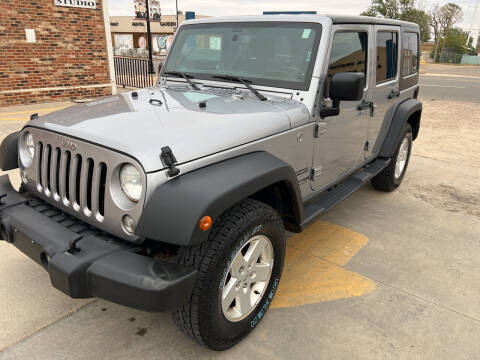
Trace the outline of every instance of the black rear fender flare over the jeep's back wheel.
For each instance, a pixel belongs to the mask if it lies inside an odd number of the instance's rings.
[[[408,99],[398,105],[393,115],[392,123],[380,150],[380,157],[391,158],[398,147],[400,132],[410,116],[416,112],[422,113],[422,103],[416,99]]]

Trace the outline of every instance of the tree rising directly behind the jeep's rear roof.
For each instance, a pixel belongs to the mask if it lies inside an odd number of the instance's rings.
[[[429,16],[416,8],[415,0],[372,0],[361,15],[414,22],[420,26],[422,41],[430,40]]]

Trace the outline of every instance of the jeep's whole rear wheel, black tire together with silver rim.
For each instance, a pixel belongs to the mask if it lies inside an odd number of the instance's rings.
[[[412,127],[405,124],[400,134],[400,143],[390,164],[372,179],[375,189],[391,192],[400,186],[407,172],[412,152]]]

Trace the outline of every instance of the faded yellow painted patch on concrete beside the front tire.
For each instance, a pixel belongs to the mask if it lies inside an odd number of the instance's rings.
[[[362,234],[322,221],[292,236],[271,307],[301,306],[375,291],[371,279],[343,267],[367,243]]]

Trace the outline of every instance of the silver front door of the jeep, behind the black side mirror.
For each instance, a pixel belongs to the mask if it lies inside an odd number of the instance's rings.
[[[362,101],[342,101],[337,116],[317,122],[313,155],[312,189],[320,190],[354,171],[365,160],[370,109],[358,109],[372,101],[369,86],[372,56],[372,25],[334,25],[332,29],[328,70],[321,93],[320,106],[331,106],[329,86],[338,72],[364,72],[366,84]],[[369,49],[370,48],[370,49]]]

